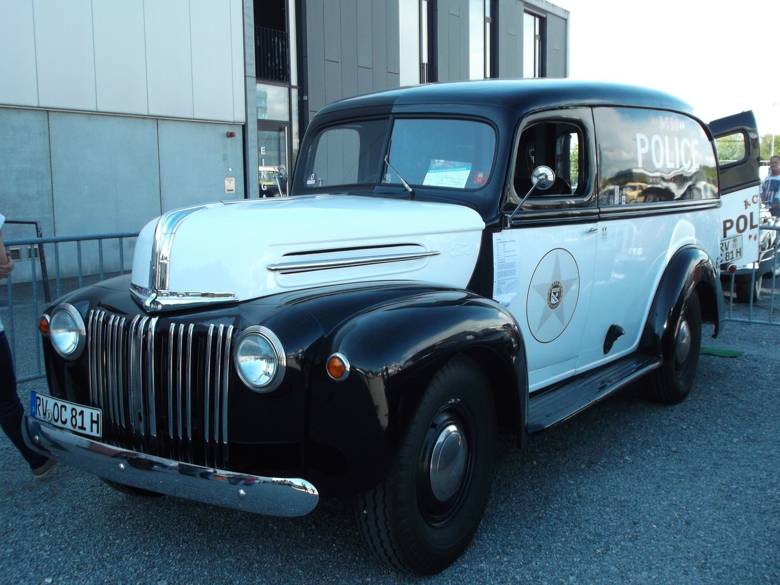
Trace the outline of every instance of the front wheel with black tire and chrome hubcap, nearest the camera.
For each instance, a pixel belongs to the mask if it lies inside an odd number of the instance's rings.
[[[447,432],[455,443],[441,440]],[[374,556],[392,569],[420,575],[451,565],[470,543],[488,503],[495,442],[488,378],[470,357],[457,356],[427,386],[388,476],[355,498],[357,524]],[[434,472],[436,445],[458,445],[450,452],[458,453],[449,459],[452,467],[445,463]],[[442,452],[440,462],[447,460]]]

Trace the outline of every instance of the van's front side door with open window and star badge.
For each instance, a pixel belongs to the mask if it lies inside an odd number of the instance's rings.
[[[555,183],[532,192],[493,239],[493,297],[523,330],[531,392],[574,374],[587,321],[598,212],[590,109],[523,121],[505,213],[516,210],[541,165],[555,171]]]

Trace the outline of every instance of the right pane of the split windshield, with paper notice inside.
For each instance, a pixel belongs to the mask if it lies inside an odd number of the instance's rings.
[[[474,190],[488,183],[495,151],[495,131],[488,124],[399,119],[390,140],[382,183],[400,184],[399,174],[417,186]]]

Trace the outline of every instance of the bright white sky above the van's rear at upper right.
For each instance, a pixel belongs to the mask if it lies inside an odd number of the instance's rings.
[[[759,133],[780,134],[778,0],[553,2],[571,13],[573,79],[665,90],[705,122],[752,109]]]

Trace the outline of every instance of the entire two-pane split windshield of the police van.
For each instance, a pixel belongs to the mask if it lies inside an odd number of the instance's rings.
[[[321,129],[301,175],[304,189],[401,185],[477,190],[488,183],[495,131],[484,122],[458,119],[396,119],[390,138],[390,165],[384,151],[389,120],[356,120]],[[392,168],[391,168],[392,167]]]

